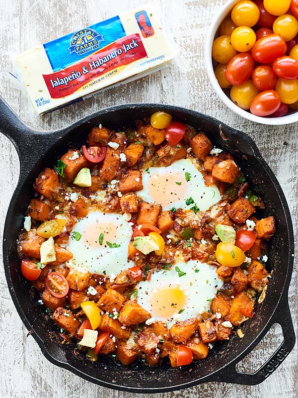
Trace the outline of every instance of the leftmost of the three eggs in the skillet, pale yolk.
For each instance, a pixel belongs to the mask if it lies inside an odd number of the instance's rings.
[[[73,253],[69,267],[84,267],[91,273],[115,278],[121,271],[134,266],[127,259],[128,244],[133,230],[122,214],[95,210],[77,222],[65,246]]]

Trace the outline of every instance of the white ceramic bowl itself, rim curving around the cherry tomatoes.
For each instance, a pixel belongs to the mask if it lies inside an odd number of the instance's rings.
[[[215,74],[214,74],[214,61],[212,60],[212,44],[214,39],[218,36],[218,30],[223,22],[224,18],[229,15],[233,6],[237,4],[239,0],[228,0],[220,9],[218,14],[216,15],[212,25],[208,31],[206,49],[205,49],[205,58],[206,58],[206,67],[209,79],[211,81],[212,86],[214,87],[217,95],[220,99],[225,103],[227,107],[229,107],[233,112],[238,115],[245,117],[245,119],[262,123],[262,124],[271,124],[271,125],[280,125],[280,124],[290,124],[298,121],[298,111],[293,110],[292,113],[287,114],[282,117],[260,117],[253,115],[247,110],[239,108],[239,106],[235,105],[233,101],[230,100],[229,97],[224,93],[223,89],[219,85]],[[217,64],[217,63],[216,63]]]

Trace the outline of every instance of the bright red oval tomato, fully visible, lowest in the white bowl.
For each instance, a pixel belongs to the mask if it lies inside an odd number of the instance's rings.
[[[251,102],[250,111],[256,116],[269,116],[281,105],[282,100],[274,90],[263,91]]]

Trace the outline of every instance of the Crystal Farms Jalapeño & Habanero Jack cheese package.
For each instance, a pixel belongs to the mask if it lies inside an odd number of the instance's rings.
[[[153,5],[49,41],[15,58],[42,114],[160,70],[176,55]]]

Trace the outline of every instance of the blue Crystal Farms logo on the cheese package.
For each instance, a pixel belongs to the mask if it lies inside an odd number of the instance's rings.
[[[75,52],[81,55],[99,48],[101,41],[104,41],[103,35],[97,33],[96,30],[90,28],[78,30],[71,37],[68,50],[70,54]]]

